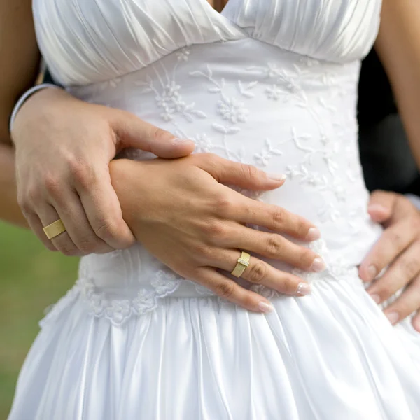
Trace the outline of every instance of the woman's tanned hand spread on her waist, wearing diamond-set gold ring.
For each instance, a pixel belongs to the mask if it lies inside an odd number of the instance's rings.
[[[234,269],[239,250],[309,271],[325,268],[319,255],[279,235],[315,240],[320,235],[314,225],[223,185],[273,190],[283,184],[281,175],[269,176],[255,167],[209,154],[146,162],[116,160],[110,167],[123,216],[136,239],[179,275],[235,304],[252,311],[272,308],[260,295],[225,276]],[[273,232],[254,230],[246,223]],[[310,292],[302,279],[255,256],[242,278],[288,295]]]

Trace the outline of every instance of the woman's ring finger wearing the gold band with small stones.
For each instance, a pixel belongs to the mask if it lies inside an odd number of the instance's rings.
[[[234,250],[221,251],[215,258],[214,267],[232,272],[237,265],[240,252]],[[311,286],[293,274],[281,272],[258,258],[251,256],[241,279],[255,284],[262,284],[285,295],[303,296],[311,293]]]

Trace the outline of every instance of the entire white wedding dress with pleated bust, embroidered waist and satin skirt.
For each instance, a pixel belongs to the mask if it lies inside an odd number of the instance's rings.
[[[388,323],[356,268],[381,234],[356,122],[381,1],[230,0],[221,14],[206,0],[33,3],[43,56],[76,97],[288,174],[279,190],[242,193],[316,223],[328,269],[270,261],[313,292],[257,287],[275,307],[264,315],[139,244],[87,256],[41,323],[9,419],[420,419],[420,334]]]

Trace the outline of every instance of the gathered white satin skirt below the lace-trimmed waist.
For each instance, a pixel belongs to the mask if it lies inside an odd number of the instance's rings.
[[[419,420],[420,334],[356,273],[254,314],[165,297],[123,325],[77,290],[52,309],[9,420]]]

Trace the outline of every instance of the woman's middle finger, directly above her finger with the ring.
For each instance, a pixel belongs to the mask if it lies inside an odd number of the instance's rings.
[[[260,232],[250,228],[236,229],[226,238],[223,244],[227,248],[247,249],[272,260],[286,262],[293,267],[321,272],[325,269],[325,262],[309,248],[293,244],[285,237],[276,233]]]

